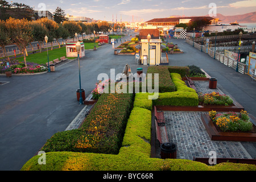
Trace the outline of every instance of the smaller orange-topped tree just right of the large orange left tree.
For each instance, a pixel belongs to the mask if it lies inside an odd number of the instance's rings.
[[[40,45],[40,52],[41,52],[44,37],[48,34],[48,30],[43,23],[39,22],[39,20],[30,22],[30,26],[32,28],[33,38],[35,41],[38,41]]]

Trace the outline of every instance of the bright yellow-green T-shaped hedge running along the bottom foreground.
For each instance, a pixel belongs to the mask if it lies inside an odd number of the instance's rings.
[[[146,95],[146,94],[145,94]],[[137,97],[138,98],[138,97]],[[135,100],[137,99],[135,98]],[[144,97],[144,101],[147,98]],[[48,152],[46,164],[38,164],[34,156],[22,170],[31,171],[255,171],[252,164],[221,163],[216,166],[187,159],[150,158],[151,111],[134,107],[127,122],[118,155],[81,152]]]

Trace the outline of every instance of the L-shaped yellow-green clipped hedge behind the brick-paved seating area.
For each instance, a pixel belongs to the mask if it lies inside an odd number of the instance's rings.
[[[177,91],[159,93],[158,99],[153,100],[154,105],[197,106],[199,99],[196,91],[188,88],[180,74],[171,73],[171,78]]]

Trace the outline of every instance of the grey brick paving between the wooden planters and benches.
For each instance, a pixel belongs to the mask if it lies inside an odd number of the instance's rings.
[[[198,93],[219,92],[209,89],[209,81],[193,81]],[[217,158],[251,159],[241,142],[213,141],[201,121],[202,111],[164,111],[169,142],[177,145],[177,159],[210,158],[215,151]],[[156,148],[156,158],[160,158],[160,147]]]

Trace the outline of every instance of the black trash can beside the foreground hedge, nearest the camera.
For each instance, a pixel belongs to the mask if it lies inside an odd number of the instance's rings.
[[[176,159],[176,144],[162,143],[160,149],[161,159]]]

